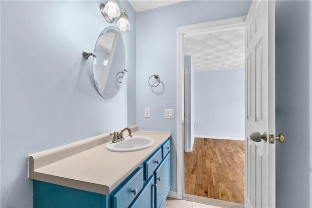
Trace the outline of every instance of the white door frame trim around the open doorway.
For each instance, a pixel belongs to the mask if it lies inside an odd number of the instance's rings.
[[[177,27],[176,68],[176,198],[184,197],[184,37],[245,26],[246,16]]]

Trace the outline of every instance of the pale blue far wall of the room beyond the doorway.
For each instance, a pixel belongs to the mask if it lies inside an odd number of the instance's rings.
[[[195,136],[245,134],[244,69],[195,72]]]

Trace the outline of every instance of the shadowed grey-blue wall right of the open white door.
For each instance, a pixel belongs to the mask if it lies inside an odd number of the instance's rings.
[[[276,1],[276,207],[308,208],[311,174],[311,1]],[[310,200],[310,202],[309,202]]]

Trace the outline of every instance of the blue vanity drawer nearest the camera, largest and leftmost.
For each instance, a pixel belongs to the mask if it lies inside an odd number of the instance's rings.
[[[128,182],[121,187],[118,192],[112,196],[113,208],[129,207],[137,194],[143,188],[143,169],[137,171]]]

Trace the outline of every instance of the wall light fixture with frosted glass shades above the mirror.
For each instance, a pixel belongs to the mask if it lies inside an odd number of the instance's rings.
[[[124,32],[130,30],[130,22],[128,19],[128,15],[126,14],[126,10],[123,8],[119,8],[117,0],[108,0],[106,5],[104,3],[101,3],[99,5],[99,8],[107,22],[113,23],[115,19],[119,18],[116,24],[117,28],[120,31]],[[122,10],[121,15],[120,10]]]

